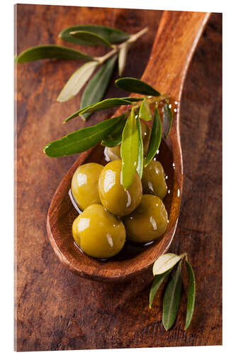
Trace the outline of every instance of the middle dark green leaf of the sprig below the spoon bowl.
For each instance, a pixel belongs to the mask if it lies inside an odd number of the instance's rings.
[[[179,310],[179,303],[181,297],[181,261],[172,275],[171,280],[164,292],[162,323],[164,329],[168,330],[174,324]]]

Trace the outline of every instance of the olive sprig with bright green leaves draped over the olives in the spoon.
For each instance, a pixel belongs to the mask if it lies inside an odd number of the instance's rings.
[[[67,117],[64,123],[88,112],[128,105],[124,114],[107,119],[94,126],[79,129],[79,131],[69,133],[57,141],[52,141],[45,146],[44,152],[50,157],[60,157],[82,153],[99,142],[108,147],[117,146],[121,143],[122,184],[126,190],[132,184],[136,170],[142,178],[143,165],[147,166],[157,153],[162,140],[162,131],[164,138],[167,138],[172,126],[173,114],[169,107],[169,95],[161,95],[146,82],[133,77],[123,77],[116,80],[115,83],[117,87],[125,91],[148,96],[105,99],[79,109],[79,111]],[[162,121],[158,110],[158,103],[161,101],[164,101]],[[154,105],[154,115],[152,115],[152,105]],[[150,144],[145,160],[140,119],[144,121],[153,119]]]

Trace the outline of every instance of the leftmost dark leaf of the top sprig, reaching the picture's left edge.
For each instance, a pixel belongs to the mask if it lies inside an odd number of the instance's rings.
[[[72,48],[67,48],[62,45],[37,45],[30,47],[21,52],[16,58],[16,62],[31,62],[33,60],[57,58],[57,59],[72,59],[72,60],[92,60],[90,55],[79,52]]]

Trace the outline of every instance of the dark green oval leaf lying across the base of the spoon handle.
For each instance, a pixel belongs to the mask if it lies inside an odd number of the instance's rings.
[[[159,96],[160,94],[154,87],[151,87],[146,82],[142,82],[142,80],[136,79],[135,77],[121,77],[116,80],[115,84],[119,89],[128,92],[137,92],[137,94],[152,96]]]

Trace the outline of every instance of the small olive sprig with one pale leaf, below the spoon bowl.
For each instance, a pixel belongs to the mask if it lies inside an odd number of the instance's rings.
[[[153,275],[154,280],[152,281],[152,286],[150,289],[150,300],[149,307],[152,308],[152,301],[154,295],[157,293],[160,285],[163,281],[168,278],[167,288],[164,291],[163,297],[163,310],[162,310],[162,323],[164,329],[170,329],[175,320],[179,310],[180,299],[181,299],[181,266],[182,261],[186,262],[186,268],[188,271],[189,278],[189,290],[188,290],[188,303],[186,312],[186,322],[184,329],[187,329],[191,323],[195,305],[195,275],[191,264],[187,260],[187,254],[183,253],[181,255],[176,255],[174,253],[167,253],[157,258],[157,261],[153,264]],[[176,266],[176,268],[175,268]],[[172,273],[173,269],[175,271]],[[172,273],[172,274],[171,274]],[[171,274],[171,275],[170,275]]]

